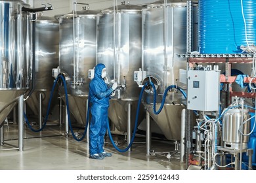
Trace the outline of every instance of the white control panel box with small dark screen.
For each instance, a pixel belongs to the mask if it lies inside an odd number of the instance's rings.
[[[219,110],[220,71],[188,71],[188,101],[190,110]]]

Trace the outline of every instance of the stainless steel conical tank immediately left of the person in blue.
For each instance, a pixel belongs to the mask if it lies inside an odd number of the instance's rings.
[[[86,123],[89,95],[88,70],[96,63],[95,10],[71,12],[60,17],[60,72],[68,87],[70,111],[79,124]],[[75,17],[75,18],[74,18]],[[60,94],[64,96],[63,88]],[[62,97],[66,101],[65,97]]]

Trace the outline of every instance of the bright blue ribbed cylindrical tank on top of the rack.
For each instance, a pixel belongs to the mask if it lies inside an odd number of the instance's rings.
[[[240,46],[256,44],[255,0],[199,0],[198,11],[200,54],[242,53]]]

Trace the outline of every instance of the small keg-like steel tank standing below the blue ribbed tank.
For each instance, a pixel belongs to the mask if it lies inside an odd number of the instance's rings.
[[[248,110],[244,110],[244,119],[242,119],[242,109],[229,109],[223,115],[223,142],[224,148],[229,149],[241,149],[241,125],[251,115]],[[243,141],[242,149],[247,148],[247,142],[249,141],[249,133],[251,127],[251,121],[248,120],[243,125]]]

